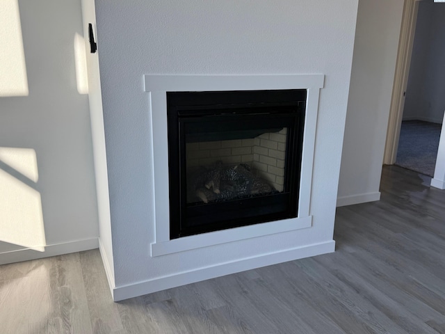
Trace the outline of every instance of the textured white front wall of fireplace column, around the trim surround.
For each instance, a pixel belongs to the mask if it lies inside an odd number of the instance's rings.
[[[277,247],[332,240],[356,11],[357,1],[350,0],[135,0],[131,6],[96,1],[117,288]],[[289,73],[326,76],[316,135],[313,227],[150,257],[152,124],[143,74]]]

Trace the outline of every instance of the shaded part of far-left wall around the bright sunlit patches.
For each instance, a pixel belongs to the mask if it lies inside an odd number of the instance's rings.
[[[74,65],[80,0],[18,4],[29,95],[0,97],[0,147],[35,150],[48,246],[39,253],[0,243],[0,263],[96,248],[98,236],[88,95]]]

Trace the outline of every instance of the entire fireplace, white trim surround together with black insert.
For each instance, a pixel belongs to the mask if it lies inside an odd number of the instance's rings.
[[[312,227],[312,167],[323,83],[323,74],[145,75],[154,164],[152,257]],[[203,119],[209,123],[204,127]],[[169,148],[172,141],[176,149]],[[276,160],[266,164],[267,158]],[[270,188],[234,189],[227,177],[230,168],[244,175],[238,180]],[[193,179],[200,169],[223,171],[219,194],[218,182]],[[177,187],[181,181],[185,186]],[[225,198],[227,191],[236,195]]]

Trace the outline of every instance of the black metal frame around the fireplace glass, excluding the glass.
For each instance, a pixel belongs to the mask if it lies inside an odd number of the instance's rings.
[[[306,99],[304,89],[167,93],[170,239],[297,216]],[[284,191],[187,205],[185,127],[202,138],[213,128],[287,127]]]

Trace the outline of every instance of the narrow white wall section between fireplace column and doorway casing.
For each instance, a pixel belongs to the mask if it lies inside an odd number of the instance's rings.
[[[380,198],[403,0],[359,0],[337,205]]]

